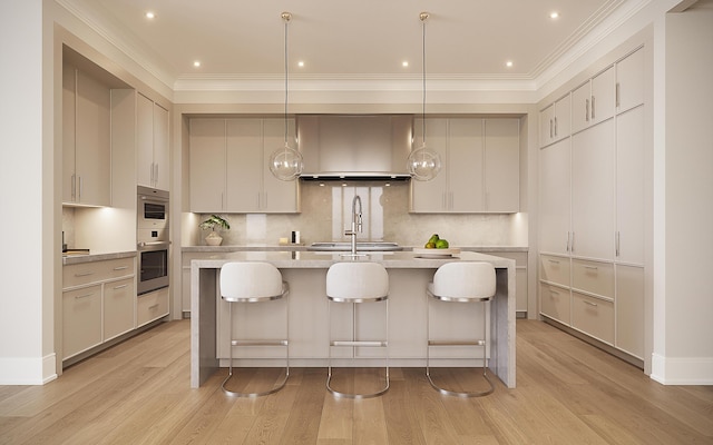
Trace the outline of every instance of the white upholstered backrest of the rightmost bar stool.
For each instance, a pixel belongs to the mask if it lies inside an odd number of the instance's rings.
[[[490,263],[446,263],[433,275],[433,294],[443,297],[487,298],[495,296],[495,267]]]

